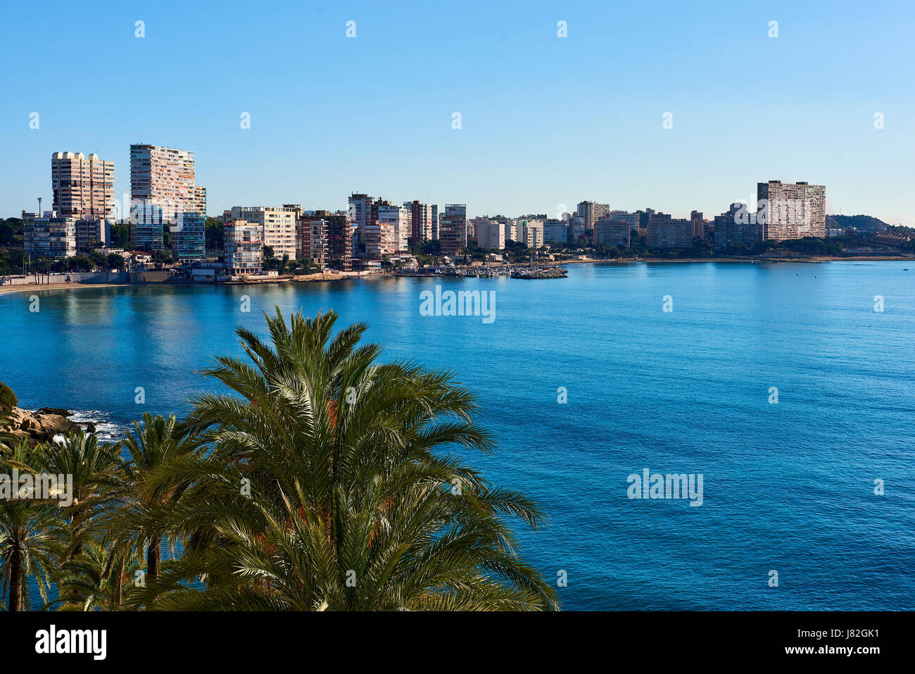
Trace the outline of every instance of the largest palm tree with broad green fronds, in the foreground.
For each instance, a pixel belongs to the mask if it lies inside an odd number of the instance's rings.
[[[153,482],[188,488],[152,516],[185,549],[135,600],[160,609],[556,608],[503,522],[538,527],[523,495],[488,484],[449,446],[490,452],[477,397],[447,372],[378,364],[367,326],[337,314],[239,328],[251,363],[205,374],[237,395],[194,400],[188,431],[210,452]],[[199,580],[198,580],[199,579]],[[198,580],[198,582],[194,582]]]

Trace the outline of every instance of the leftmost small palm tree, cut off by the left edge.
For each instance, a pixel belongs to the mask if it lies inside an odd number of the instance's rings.
[[[28,451],[27,444],[20,443],[12,461],[26,462]],[[2,468],[4,473],[11,472],[8,462],[4,461]],[[0,583],[3,596],[9,591],[10,611],[30,608],[30,577],[36,579],[38,592],[47,603],[48,574],[57,568],[65,530],[66,520],[55,503],[32,498],[0,501]]]

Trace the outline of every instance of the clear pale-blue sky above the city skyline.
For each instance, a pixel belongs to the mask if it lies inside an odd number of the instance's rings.
[[[710,217],[782,179],[915,226],[910,1],[204,5],[5,5],[0,215],[49,207],[58,150],[112,159],[129,191],[144,142],[197,153],[210,214],[362,190]]]

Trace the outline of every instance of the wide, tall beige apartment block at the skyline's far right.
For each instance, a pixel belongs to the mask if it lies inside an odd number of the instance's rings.
[[[764,241],[826,235],[826,188],[806,182],[759,182],[756,222]]]

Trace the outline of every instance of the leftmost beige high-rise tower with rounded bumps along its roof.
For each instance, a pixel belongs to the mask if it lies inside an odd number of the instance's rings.
[[[114,217],[114,162],[81,152],[51,155],[53,211],[59,217],[111,220]]]

